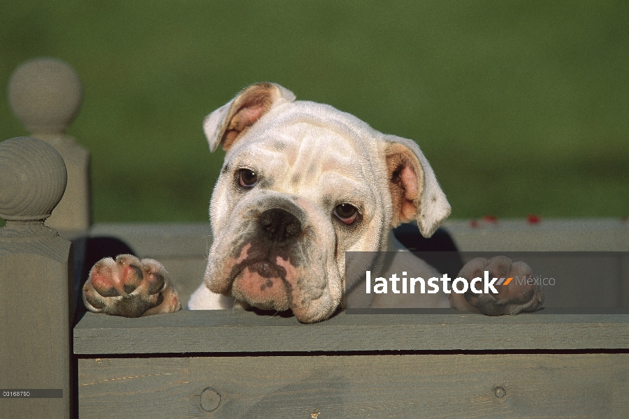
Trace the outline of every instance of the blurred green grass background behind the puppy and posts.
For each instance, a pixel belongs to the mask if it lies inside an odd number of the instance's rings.
[[[202,221],[201,122],[277,82],[416,140],[452,217],[629,215],[627,1],[2,1],[0,89],[63,59],[94,221]],[[0,101],[0,140],[27,134]]]

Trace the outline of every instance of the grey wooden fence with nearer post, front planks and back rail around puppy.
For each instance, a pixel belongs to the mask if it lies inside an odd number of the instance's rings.
[[[44,219],[66,183],[59,154],[32,138],[0,144],[0,388],[63,390],[54,399],[1,397],[0,418],[629,417],[626,253],[605,309],[575,311],[551,295],[546,309],[519,316],[438,309],[303,325],[216,310],[83,313],[74,325],[73,290],[85,277],[73,276],[85,271],[87,240],[115,238],[161,260],[185,301],[212,237],[208,223],[89,221],[60,222],[57,235]],[[445,228],[463,251],[629,251],[621,219]],[[591,284],[579,286],[587,295]]]

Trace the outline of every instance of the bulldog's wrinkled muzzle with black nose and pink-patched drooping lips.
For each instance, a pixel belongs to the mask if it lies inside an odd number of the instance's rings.
[[[338,307],[342,294],[329,276],[337,279],[330,253],[332,226],[325,230],[326,216],[312,205],[308,208],[314,219],[292,201],[271,198],[247,202],[243,207],[253,210],[232,214],[232,230],[210,251],[205,284],[212,293],[233,297],[247,308],[291,311],[302,323],[321,321]],[[275,206],[265,209],[270,204]],[[321,221],[321,227],[315,228],[313,220]]]

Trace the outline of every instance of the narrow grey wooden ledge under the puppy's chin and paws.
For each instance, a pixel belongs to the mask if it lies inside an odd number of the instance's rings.
[[[242,310],[87,313],[77,354],[628,349],[629,314],[339,314],[314,325]],[[542,311],[543,312],[543,311]],[[540,312],[540,313],[542,313]],[[451,314],[444,314],[451,313]]]

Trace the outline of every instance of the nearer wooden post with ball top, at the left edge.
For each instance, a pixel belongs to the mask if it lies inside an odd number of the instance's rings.
[[[73,250],[44,224],[66,180],[62,156],[46,142],[0,143],[0,418],[71,416]]]

